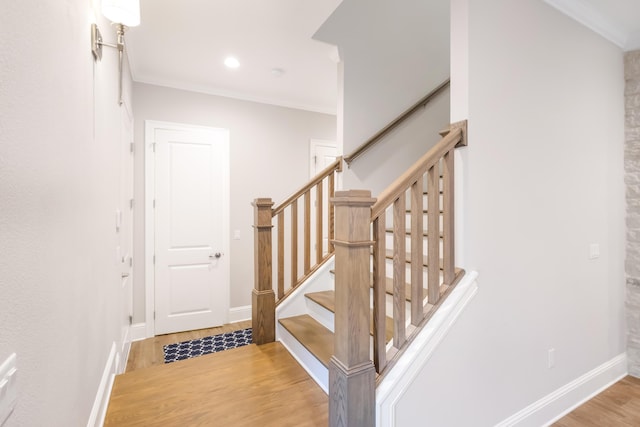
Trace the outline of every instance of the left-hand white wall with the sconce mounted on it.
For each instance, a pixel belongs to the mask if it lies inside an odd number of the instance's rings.
[[[94,64],[90,1],[1,9],[0,363],[15,352],[18,367],[6,426],[86,425],[123,326],[116,51]]]

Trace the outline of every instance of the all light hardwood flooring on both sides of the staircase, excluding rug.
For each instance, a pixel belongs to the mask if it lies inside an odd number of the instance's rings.
[[[163,363],[166,344],[248,327],[250,321],[134,342],[105,426],[326,426],[326,394],[279,343]],[[622,379],[553,426],[640,426],[640,379]]]

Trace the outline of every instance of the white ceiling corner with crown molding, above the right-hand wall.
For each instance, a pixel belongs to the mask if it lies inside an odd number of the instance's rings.
[[[640,49],[640,0],[544,1],[622,49]]]

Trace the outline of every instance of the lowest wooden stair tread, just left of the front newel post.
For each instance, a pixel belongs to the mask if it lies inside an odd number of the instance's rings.
[[[280,324],[327,369],[333,355],[333,332],[308,314],[287,317]]]

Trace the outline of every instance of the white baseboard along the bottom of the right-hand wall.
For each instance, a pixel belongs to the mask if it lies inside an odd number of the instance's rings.
[[[496,427],[548,426],[627,375],[622,353],[513,414]]]

